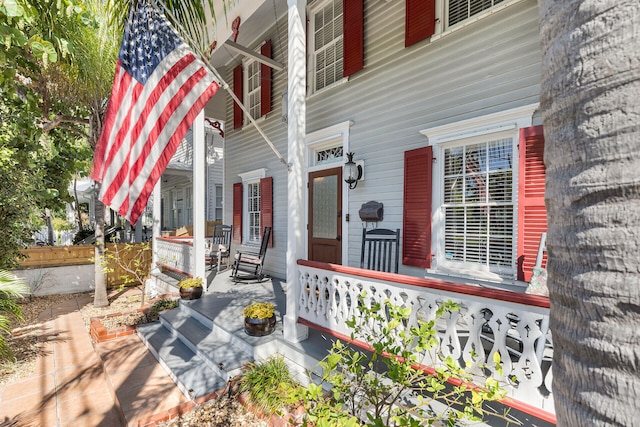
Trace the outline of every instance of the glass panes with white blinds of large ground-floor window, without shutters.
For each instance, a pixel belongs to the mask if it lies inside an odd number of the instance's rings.
[[[514,265],[513,140],[444,149],[444,257],[448,262]]]

